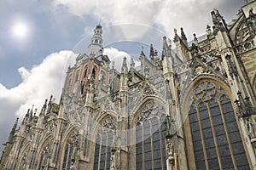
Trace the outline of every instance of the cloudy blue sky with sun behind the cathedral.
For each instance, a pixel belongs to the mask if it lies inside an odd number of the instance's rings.
[[[217,8],[229,23],[243,0],[1,0],[0,143],[7,141],[15,117],[41,110],[51,94],[60,99],[68,65],[84,53],[92,31],[102,25],[105,54],[119,69],[123,57],[136,60],[141,46],[159,51],[163,36],[180,27],[193,40],[212,26]],[[128,59],[129,60],[129,59]],[[0,151],[3,146],[0,146]]]

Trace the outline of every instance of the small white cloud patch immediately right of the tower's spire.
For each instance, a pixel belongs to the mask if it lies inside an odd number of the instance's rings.
[[[131,64],[130,54],[127,54],[124,51],[119,51],[116,48],[104,48],[104,54],[107,54],[111,62],[114,62],[114,68],[116,70],[121,71],[121,67],[125,57],[127,61],[127,67],[130,68],[130,64]],[[134,59],[134,62],[135,62],[135,66],[139,65],[139,61]]]

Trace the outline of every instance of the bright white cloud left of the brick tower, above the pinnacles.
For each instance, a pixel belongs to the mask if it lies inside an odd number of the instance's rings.
[[[6,108],[5,111],[0,112],[0,115],[4,116],[6,112],[14,111],[16,116],[23,117],[32,105],[40,111],[44,99],[49,99],[50,94],[53,94],[58,101],[67,66],[72,64],[74,59],[73,52],[61,51],[49,54],[40,65],[34,65],[30,71],[20,67],[19,72],[23,82],[10,89],[0,83],[0,103],[4,101],[15,104],[15,109]]]

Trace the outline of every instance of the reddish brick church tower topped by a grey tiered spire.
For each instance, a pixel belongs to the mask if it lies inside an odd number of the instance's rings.
[[[107,55],[103,55],[102,26],[97,25],[91,37],[86,54],[79,54],[76,64],[67,71],[64,91],[73,94],[84,94],[85,86],[93,82],[107,85],[109,82],[109,64]]]

